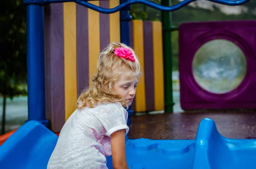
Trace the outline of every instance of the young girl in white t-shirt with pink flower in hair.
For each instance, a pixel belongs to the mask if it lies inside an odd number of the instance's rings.
[[[126,109],[131,105],[140,76],[140,62],[133,49],[111,43],[99,55],[93,84],[76,103],[58,137],[47,169],[128,169],[125,135]]]

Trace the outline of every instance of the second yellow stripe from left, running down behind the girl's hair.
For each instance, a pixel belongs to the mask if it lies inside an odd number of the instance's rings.
[[[99,6],[99,1],[90,1]],[[89,48],[89,85],[92,85],[92,77],[96,73],[96,65],[100,52],[99,37],[99,12],[88,9],[88,48]]]

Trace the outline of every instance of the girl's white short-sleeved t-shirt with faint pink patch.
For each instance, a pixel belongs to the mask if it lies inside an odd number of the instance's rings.
[[[129,131],[127,111],[121,103],[101,103],[76,110],[61,129],[47,169],[108,169],[111,134]]]

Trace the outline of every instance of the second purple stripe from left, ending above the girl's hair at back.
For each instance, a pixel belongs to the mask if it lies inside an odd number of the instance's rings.
[[[77,94],[89,87],[88,9],[76,4]]]

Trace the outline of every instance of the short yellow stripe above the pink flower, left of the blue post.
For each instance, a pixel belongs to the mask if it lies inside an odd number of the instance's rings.
[[[119,0],[110,0],[109,8],[119,5]],[[110,42],[120,42],[120,17],[119,11],[109,14],[109,30]]]

